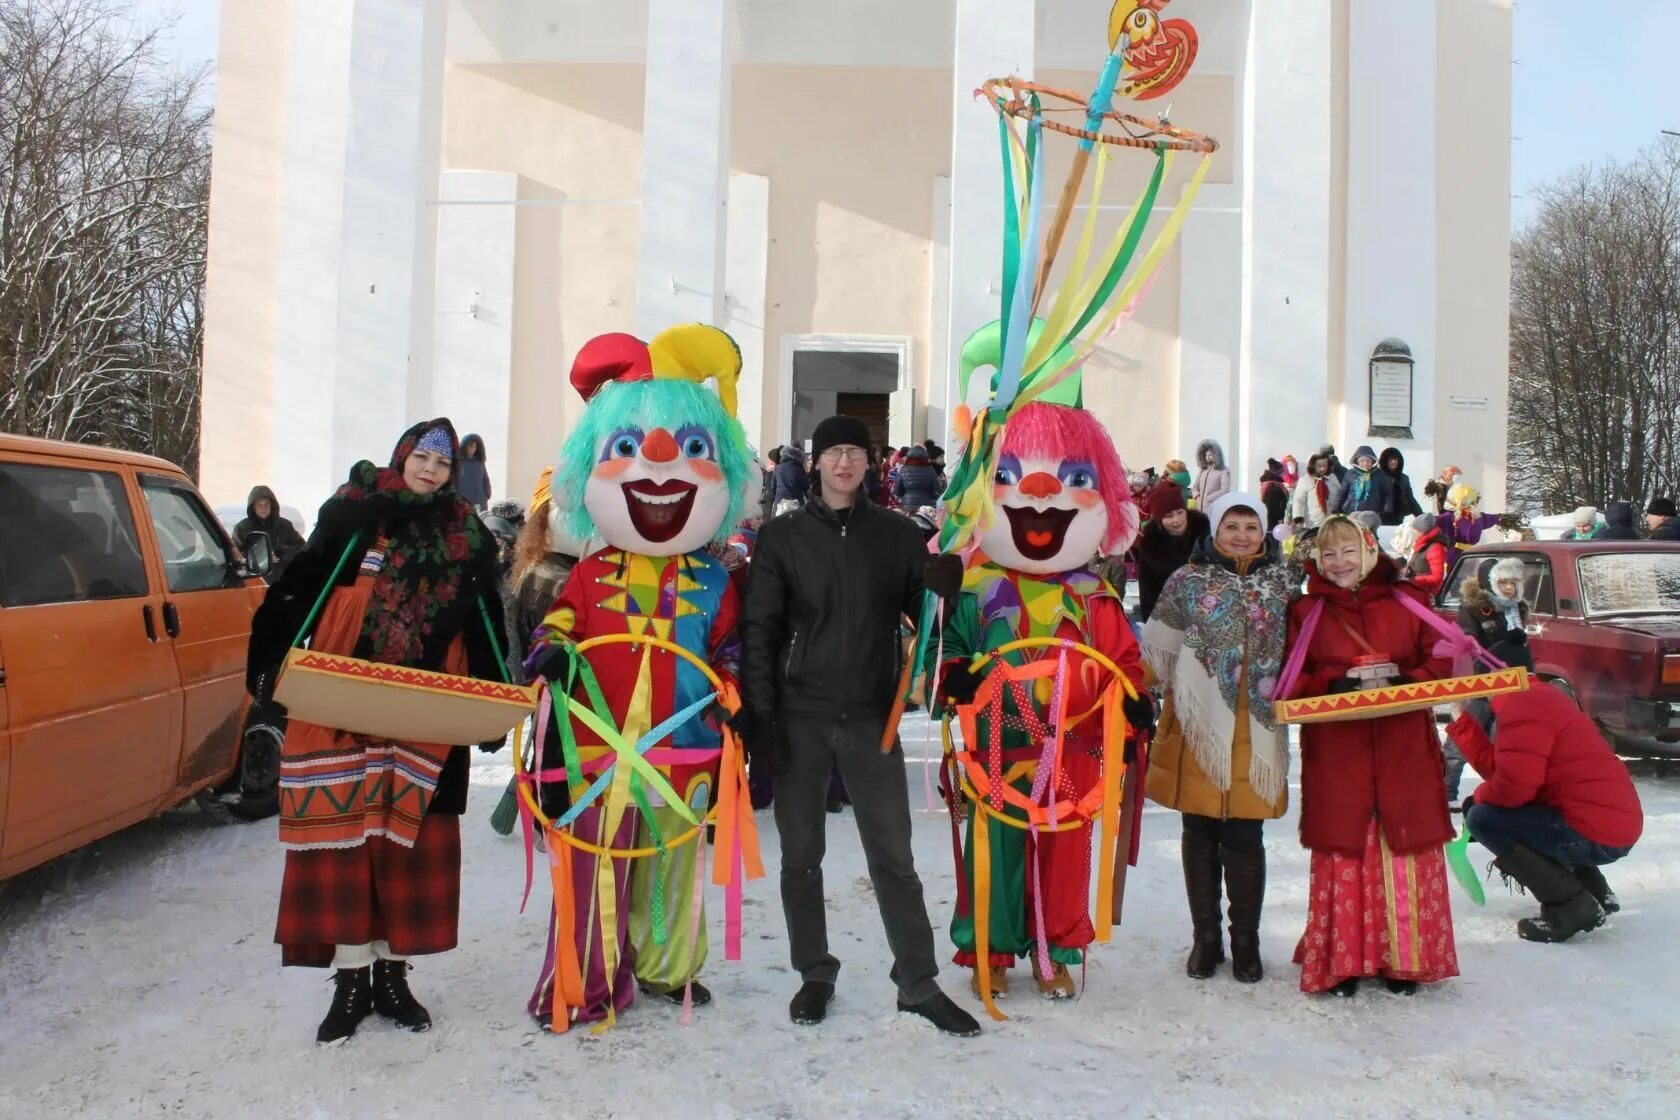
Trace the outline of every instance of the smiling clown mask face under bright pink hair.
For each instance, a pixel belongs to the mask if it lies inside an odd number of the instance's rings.
[[[1047,576],[1084,568],[1109,534],[1097,467],[1077,457],[1003,455],[991,502],[996,516],[979,546],[1015,571]]]

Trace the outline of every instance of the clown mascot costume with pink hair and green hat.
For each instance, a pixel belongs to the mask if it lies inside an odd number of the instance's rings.
[[[1038,324],[1028,339],[1037,341]],[[986,395],[971,386],[976,368],[998,361],[998,324],[981,329],[963,349],[964,398]],[[983,400],[969,408],[983,408]],[[939,697],[973,705],[981,682],[996,667],[978,660],[1020,640],[1067,640],[1089,646],[1112,662],[1134,688],[1146,670],[1119,594],[1092,564],[1100,556],[1121,556],[1137,536],[1139,512],[1131,497],[1126,467],[1102,425],[1080,406],[1079,373],[1053,390],[1015,408],[995,450],[990,480],[991,512],[978,519],[961,576],[961,594],[944,623],[942,648],[929,645],[937,662]],[[954,495],[948,495],[948,502]],[[959,502],[961,504],[961,502]],[[932,584],[931,584],[932,586]],[[936,588],[942,589],[942,588]],[[1021,667],[1055,658],[1055,650],[1023,648],[1003,662]],[[1001,777],[1035,806],[1079,796],[1104,781],[1104,735],[1116,724],[1102,719],[1107,670],[1082,653],[1067,652],[1055,678],[1000,680],[983,702],[976,732],[968,742],[990,774]],[[1063,695],[1065,693],[1065,695]],[[1124,693],[1121,693],[1124,695]],[[1134,727],[1152,724],[1152,705],[1141,693],[1122,702]],[[1057,714],[1062,714],[1060,719]],[[1057,725],[1060,724],[1060,727]],[[1062,739],[1058,757],[1047,744]],[[1119,762],[1119,756],[1114,756]],[[954,811],[961,811],[961,771],[946,771]],[[1136,793],[1136,791],[1132,791]],[[1082,966],[1095,937],[1090,915],[1092,821],[1070,819],[1058,830],[1023,828],[1021,808],[1003,804],[993,793],[974,796],[963,863],[958,868],[958,912],[951,922],[954,960],[974,971],[973,991],[983,999],[1008,989],[1008,969],[1016,957],[1033,960],[1033,977],[1047,999],[1074,996],[1070,966]],[[1013,819],[1006,819],[1013,818]],[[976,828],[990,883],[976,875]],[[1129,830],[1126,830],[1129,831]],[[1114,838],[1105,836],[1112,846]],[[976,892],[988,905],[976,907]],[[986,915],[984,937],[976,922]],[[986,960],[979,959],[986,954]]]

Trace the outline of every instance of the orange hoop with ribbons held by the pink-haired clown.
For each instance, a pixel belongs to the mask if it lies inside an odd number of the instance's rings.
[[[1028,662],[1026,665],[1011,665],[1003,658],[1010,653],[1020,650],[1055,650],[1058,657],[1052,662],[1050,658],[1038,658]],[[1102,784],[1095,789],[1085,791],[1075,799],[1052,799],[1047,804],[1037,804],[1025,794],[1021,794],[1013,786],[1000,781],[993,781],[995,774],[988,772],[979,759],[974,757],[974,744],[978,737],[978,714],[983,707],[995,705],[995,720],[1003,719],[1003,697],[998,690],[1005,680],[1040,680],[1048,677],[1052,672],[1067,670],[1067,655],[1077,653],[1085,657],[1089,662],[1107,670],[1110,680],[1102,690],[1102,700],[1097,709],[1102,712]],[[941,720],[946,747],[951,752],[953,769],[959,779],[963,794],[969,799],[974,808],[974,835],[973,835],[973,860],[974,860],[974,957],[976,960],[991,959],[991,830],[990,823],[993,819],[1001,821],[1011,828],[1023,831],[1067,831],[1072,828],[1080,828],[1087,821],[1097,819],[1102,824],[1102,848],[1099,855],[1097,868],[1097,915],[1095,915],[1095,939],[1099,942],[1107,942],[1114,929],[1112,908],[1114,908],[1114,860],[1119,851],[1121,836],[1119,818],[1121,818],[1121,777],[1126,774],[1126,756],[1124,742],[1127,734],[1127,722],[1124,709],[1121,707],[1121,697],[1137,699],[1137,688],[1127,680],[1121,667],[1116,665],[1100,650],[1094,650],[1082,641],[1072,641],[1068,638],[1018,638],[1015,641],[1006,641],[996,650],[979,653],[974,657],[971,665],[974,668],[993,663],[993,672],[986,675],[981,682],[979,690],[974,693],[974,700],[966,705],[956,707],[956,717],[963,725],[963,749],[956,751],[951,741],[951,712],[948,710]],[[1062,734],[1065,729],[1065,688],[1058,687],[1057,700],[1060,712],[1052,715],[1053,727],[1052,734],[1055,737],[1055,757],[1052,764],[1060,764],[1062,756]],[[1040,762],[1043,766],[1043,762]],[[1053,789],[1047,786],[1048,796],[1053,798]],[[1001,799],[1021,809],[1025,819],[1011,818],[1000,809],[993,808],[995,799]],[[958,866],[958,877],[961,880],[963,868]],[[1043,944],[1043,932],[1040,922],[1038,937],[1038,954],[1042,959],[1048,957],[1048,947]],[[1048,967],[1048,962],[1042,962]],[[979,979],[979,1001],[986,1006],[986,1013],[996,1019],[1008,1019],[1006,1014],[998,1011],[998,1004],[991,994],[991,969],[976,969],[976,977]]]

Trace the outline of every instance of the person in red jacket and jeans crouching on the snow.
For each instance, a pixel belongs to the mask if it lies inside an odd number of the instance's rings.
[[[1488,653],[1532,670],[1527,641],[1515,638]],[[1628,855],[1645,816],[1628,767],[1591,717],[1536,682],[1460,707],[1448,734],[1485,779],[1465,798],[1470,836],[1541,902],[1541,915],[1517,922],[1517,935],[1559,942],[1603,925],[1621,907],[1599,866]]]

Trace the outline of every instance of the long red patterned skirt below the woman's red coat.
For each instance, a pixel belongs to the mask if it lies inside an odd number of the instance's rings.
[[[1389,851],[1373,819],[1364,855],[1312,853],[1307,893],[1307,929],[1295,945],[1300,991],[1378,976],[1423,984],[1458,976],[1440,848]]]

